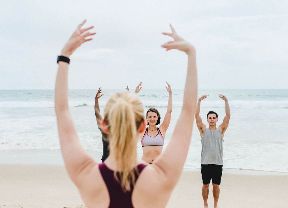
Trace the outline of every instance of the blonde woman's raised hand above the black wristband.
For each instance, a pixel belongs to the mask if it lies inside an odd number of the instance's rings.
[[[86,20],[84,20],[81,24],[78,25],[78,27],[76,28],[76,30],[74,31],[70,39],[67,41],[67,43],[63,47],[61,51],[61,56],[69,57],[82,43],[92,40],[92,38],[89,38],[89,39],[85,39],[85,38],[96,34],[96,33],[90,33],[88,31],[92,29],[94,26],[81,29],[81,27],[84,25],[85,22]],[[88,32],[83,34],[86,31]]]

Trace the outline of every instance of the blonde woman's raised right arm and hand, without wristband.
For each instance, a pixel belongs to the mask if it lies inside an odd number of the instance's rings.
[[[169,41],[162,47],[167,51],[178,49],[188,55],[187,76],[180,117],[167,148],[156,159],[152,167],[154,166],[158,172],[163,173],[162,177],[164,175],[166,179],[166,188],[172,189],[179,180],[189,149],[197,100],[197,69],[195,48],[179,37],[171,25],[170,27],[172,33],[163,34],[173,37],[174,41]]]

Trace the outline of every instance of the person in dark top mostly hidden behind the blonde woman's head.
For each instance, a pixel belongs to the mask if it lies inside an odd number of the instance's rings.
[[[95,96],[95,105],[94,105],[94,110],[95,110],[95,116],[96,116],[96,121],[97,121],[97,125],[98,125],[98,129],[101,131],[102,134],[102,143],[103,143],[103,154],[102,154],[102,162],[104,162],[104,160],[106,160],[106,158],[109,156],[109,141],[108,141],[108,137],[107,134],[104,133],[101,129],[101,121],[102,121],[102,116],[100,114],[100,108],[99,108],[99,102],[98,99],[101,98],[101,96],[103,96],[102,93],[102,89],[101,87],[99,87],[98,92],[96,93]]]

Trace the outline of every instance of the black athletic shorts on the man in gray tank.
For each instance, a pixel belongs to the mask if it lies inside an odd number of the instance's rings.
[[[202,181],[203,184],[209,184],[212,178],[213,184],[220,185],[221,176],[222,176],[222,167],[223,165],[202,165],[201,164],[201,174],[202,174]]]

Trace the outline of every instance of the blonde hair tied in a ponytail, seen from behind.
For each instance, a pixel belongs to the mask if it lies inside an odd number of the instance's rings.
[[[107,102],[104,119],[109,131],[109,146],[119,162],[120,184],[124,191],[131,190],[135,183],[138,128],[144,119],[144,110],[139,98],[131,93],[117,93]],[[120,167],[121,166],[121,167]],[[118,180],[114,171],[114,177]]]

